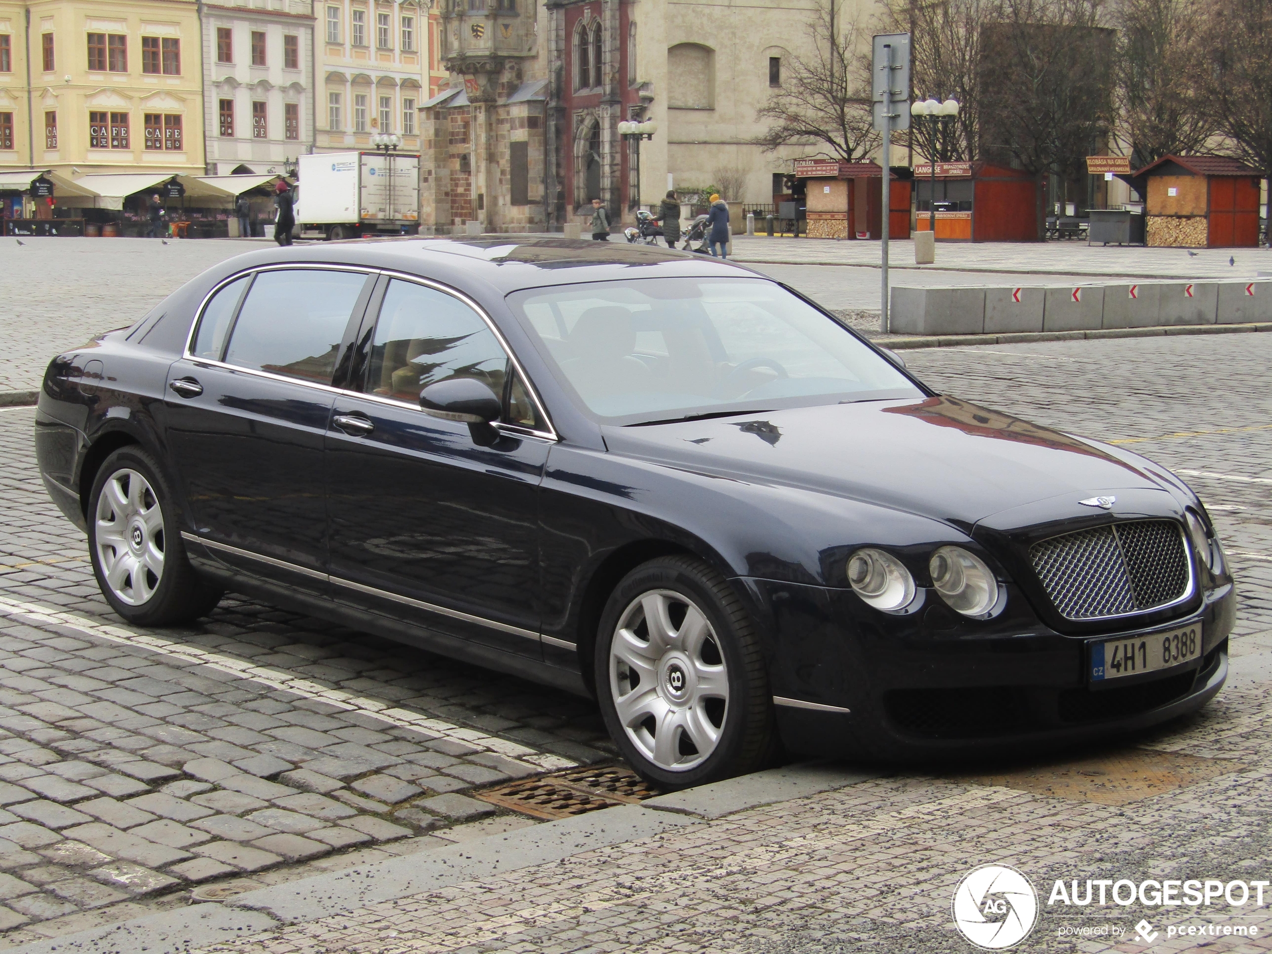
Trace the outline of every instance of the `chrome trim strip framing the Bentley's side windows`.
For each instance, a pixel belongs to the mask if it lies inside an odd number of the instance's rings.
[[[324,392],[329,393],[329,394],[340,394],[340,396],[343,396],[343,397],[363,398],[363,399],[366,399],[366,401],[374,401],[375,403],[387,404],[389,407],[398,407],[398,408],[406,408],[406,410],[410,410],[410,411],[416,411],[416,412],[424,415],[422,410],[420,410],[418,407],[412,407],[411,404],[406,403],[404,401],[394,401],[392,398],[382,397],[379,394],[368,394],[366,392],[352,391],[350,388],[336,388],[336,387],[333,387],[331,384],[319,384],[318,382],[304,380],[303,378],[289,378],[285,374],[275,374],[272,371],[262,371],[258,368],[243,368],[243,366],[237,365],[237,364],[228,364],[225,361],[214,360],[214,359],[210,359],[210,357],[198,357],[198,356],[196,356],[193,354],[192,349],[195,346],[195,338],[198,335],[198,326],[204,321],[204,312],[207,309],[209,301],[212,300],[212,298],[216,295],[218,291],[220,291],[226,285],[229,285],[229,284],[232,284],[234,281],[238,281],[239,279],[242,279],[244,276],[258,275],[261,272],[270,272],[270,271],[289,271],[289,270],[296,270],[296,268],[319,268],[322,271],[356,272],[359,275],[368,275],[368,276],[369,275],[377,275],[377,276],[383,275],[387,279],[399,279],[402,281],[415,282],[416,285],[424,285],[425,287],[430,287],[434,291],[440,291],[444,295],[450,295],[452,298],[459,299],[466,305],[468,305],[471,309],[473,309],[473,312],[476,312],[477,315],[486,323],[486,327],[490,328],[491,333],[494,333],[495,340],[499,342],[499,346],[501,349],[504,349],[504,354],[508,355],[508,360],[513,363],[513,368],[516,370],[516,373],[520,375],[522,380],[524,382],[525,389],[529,392],[530,399],[534,402],[534,407],[538,410],[539,415],[547,422],[547,426],[548,426],[548,429],[546,431],[542,431],[542,430],[537,430],[537,429],[533,429],[533,427],[525,427],[523,425],[504,424],[502,421],[496,421],[495,422],[495,427],[499,429],[500,431],[506,431],[508,434],[515,434],[516,436],[522,436],[522,438],[539,438],[541,440],[550,440],[550,441],[553,441],[553,443],[561,440],[561,435],[557,434],[557,430],[556,430],[556,427],[552,424],[552,418],[548,416],[547,408],[543,406],[543,401],[539,398],[539,392],[534,387],[534,382],[530,380],[530,375],[528,375],[525,373],[525,369],[522,366],[520,360],[516,357],[516,352],[513,351],[511,346],[508,343],[508,338],[505,338],[504,333],[499,329],[499,327],[496,327],[494,319],[486,313],[486,309],[482,308],[481,305],[478,305],[474,300],[472,300],[471,298],[468,298],[466,294],[463,294],[458,289],[453,289],[453,287],[450,287],[448,285],[443,285],[440,282],[432,281],[431,279],[424,279],[424,277],[421,277],[418,275],[411,275],[410,272],[399,272],[399,271],[394,271],[394,270],[391,270],[391,268],[371,268],[371,267],[368,267],[368,266],[355,266],[355,265],[350,265],[350,266],[343,266],[343,265],[323,265],[321,262],[295,262],[295,263],[280,263],[280,265],[263,265],[263,266],[256,266],[256,267],[252,267],[252,268],[244,268],[243,271],[235,272],[234,275],[230,275],[229,277],[226,277],[223,281],[218,282],[215,285],[215,287],[212,287],[212,290],[209,291],[204,296],[204,300],[200,301],[198,309],[196,312],[196,318],[195,318],[195,321],[190,326],[190,335],[186,337],[186,347],[184,347],[184,350],[182,352],[182,357],[184,360],[187,360],[187,361],[195,361],[195,363],[198,363],[198,364],[207,365],[210,368],[221,368],[221,369],[230,370],[230,371],[240,371],[243,374],[252,374],[252,375],[256,375],[258,378],[266,378],[268,380],[284,382],[284,383],[287,383],[287,384],[300,384],[300,385],[307,387],[307,388],[315,388],[318,391],[324,391]],[[240,307],[242,307],[242,304],[240,304]],[[378,319],[379,315],[375,315],[375,318]],[[237,319],[235,319],[234,324],[235,326],[238,324]],[[230,327],[230,335],[232,336],[233,336],[233,332],[234,332],[234,327],[232,326]],[[223,349],[226,345],[229,345],[228,340],[225,342],[223,342]],[[425,416],[427,416],[427,415],[425,415]]]

